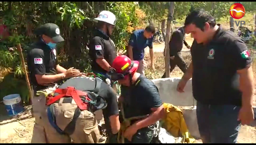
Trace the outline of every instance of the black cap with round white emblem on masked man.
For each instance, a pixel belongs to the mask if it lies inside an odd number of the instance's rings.
[[[55,43],[64,41],[64,39],[60,36],[60,28],[56,24],[53,23],[47,23],[44,25],[41,25],[39,28],[37,28],[34,32],[36,35],[46,35],[48,37],[51,37],[52,40]]]

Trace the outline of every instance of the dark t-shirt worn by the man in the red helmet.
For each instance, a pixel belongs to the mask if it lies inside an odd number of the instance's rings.
[[[124,97],[125,118],[148,115],[152,113],[151,108],[163,104],[156,85],[143,75],[130,87],[122,85],[121,96]]]

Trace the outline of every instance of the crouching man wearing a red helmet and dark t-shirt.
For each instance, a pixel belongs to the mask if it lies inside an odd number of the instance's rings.
[[[150,127],[164,115],[163,103],[156,85],[137,73],[138,66],[138,61],[131,61],[125,55],[117,56],[111,66],[111,80],[118,80],[122,84],[119,101],[123,104],[124,114],[121,115],[125,119],[146,116],[131,121],[131,126],[123,134],[125,143],[150,143],[153,139]]]

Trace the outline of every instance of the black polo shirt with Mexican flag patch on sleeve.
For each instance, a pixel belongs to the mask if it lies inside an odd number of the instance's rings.
[[[207,45],[191,47],[193,61],[192,88],[194,98],[209,105],[241,105],[237,70],[251,65],[251,57],[243,40],[219,25]]]

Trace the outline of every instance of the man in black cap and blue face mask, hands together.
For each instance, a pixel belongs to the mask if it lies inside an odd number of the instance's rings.
[[[81,76],[77,69],[64,69],[58,64],[56,55],[56,44],[64,41],[60,36],[60,29],[56,24],[47,23],[35,30],[40,39],[32,45],[28,52],[27,63],[32,84],[33,93],[33,115],[35,125],[31,143],[46,143],[44,126],[42,125],[42,113],[45,113],[45,95],[36,95],[37,91],[47,94],[54,91],[57,81],[73,76]]]

